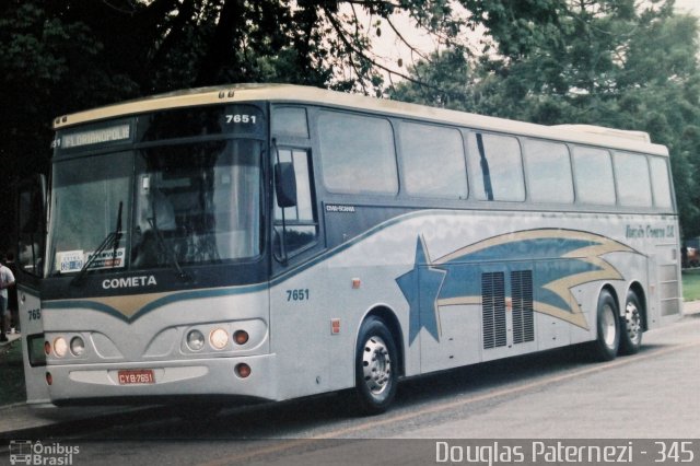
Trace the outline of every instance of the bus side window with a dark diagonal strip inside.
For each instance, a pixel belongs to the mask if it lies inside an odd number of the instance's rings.
[[[474,196],[479,200],[525,200],[523,161],[517,139],[472,132],[468,141]]]

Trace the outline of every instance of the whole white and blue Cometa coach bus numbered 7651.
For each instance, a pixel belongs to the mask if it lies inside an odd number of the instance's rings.
[[[681,312],[668,151],[642,132],[294,85],[54,126],[47,214],[19,197],[30,401],[353,388],[378,412],[404,377],[610,360]]]

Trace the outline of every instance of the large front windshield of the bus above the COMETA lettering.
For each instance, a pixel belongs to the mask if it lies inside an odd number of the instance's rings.
[[[259,255],[260,153],[258,140],[229,139],[57,162],[49,272]]]

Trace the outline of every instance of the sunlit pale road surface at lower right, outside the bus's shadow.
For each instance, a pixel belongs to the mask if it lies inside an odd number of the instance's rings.
[[[459,415],[399,438],[693,438],[700,439],[700,319],[645,335],[632,358],[572,368],[465,397]]]

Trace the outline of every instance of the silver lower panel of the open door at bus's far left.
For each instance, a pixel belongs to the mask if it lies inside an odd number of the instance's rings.
[[[18,305],[22,329],[26,401],[28,404],[46,404],[49,403],[49,392],[46,384],[44,326],[38,291],[24,284],[18,284]]]

